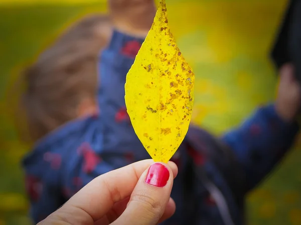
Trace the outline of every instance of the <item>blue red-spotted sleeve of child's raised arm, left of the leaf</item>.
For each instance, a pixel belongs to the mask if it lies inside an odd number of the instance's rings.
[[[143,38],[136,38],[114,30],[111,41],[99,58],[98,103],[105,120],[126,120],[124,84],[128,70],[135,60]]]

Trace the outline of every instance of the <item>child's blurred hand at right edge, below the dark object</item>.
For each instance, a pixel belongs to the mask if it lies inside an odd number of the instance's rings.
[[[294,76],[292,64],[284,64],[280,68],[280,81],[275,108],[277,113],[286,121],[292,121],[301,104],[301,86]]]

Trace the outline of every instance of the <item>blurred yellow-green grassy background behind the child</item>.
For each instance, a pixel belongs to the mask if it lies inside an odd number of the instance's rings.
[[[286,0],[167,0],[172,32],[196,73],[193,119],[220,134],[274,98],[268,53]],[[105,0],[0,0],[0,225],[30,224],[12,87],[22,68]],[[248,199],[248,224],[301,224],[301,144]]]

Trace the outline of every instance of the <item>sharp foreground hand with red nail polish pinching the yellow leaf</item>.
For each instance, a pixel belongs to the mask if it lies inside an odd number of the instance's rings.
[[[155,225],[175,212],[170,194],[177,173],[174,162],[153,160],[110,171],[93,179],[38,225]]]

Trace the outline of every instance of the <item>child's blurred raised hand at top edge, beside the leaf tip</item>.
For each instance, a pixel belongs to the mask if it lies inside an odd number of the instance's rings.
[[[145,37],[156,15],[154,0],[108,0],[116,29],[132,36]]]

